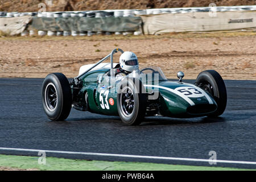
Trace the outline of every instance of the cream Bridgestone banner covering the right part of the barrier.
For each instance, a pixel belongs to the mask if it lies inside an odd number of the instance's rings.
[[[142,15],[144,34],[239,30],[256,27],[256,11]]]

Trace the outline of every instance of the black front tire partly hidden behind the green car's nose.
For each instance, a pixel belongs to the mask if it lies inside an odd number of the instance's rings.
[[[196,86],[208,91],[217,103],[217,110],[209,114],[209,117],[218,117],[226,109],[227,94],[225,83],[220,74],[214,70],[199,73],[195,82]]]

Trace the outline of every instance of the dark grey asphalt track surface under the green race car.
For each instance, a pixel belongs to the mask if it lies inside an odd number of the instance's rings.
[[[226,111],[219,118],[175,119],[147,117],[140,126],[124,126],[119,117],[71,110],[67,121],[52,122],[44,114],[39,78],[0,78],[0,147],[98,152],[175,158],[256,161],[256,81],[225,80]],[[193,80],[184,80],[191,82]],[[6,151],[0,154],[33,155]],[[135,161],[193,166],[256,168],[254,164],[187,162],[53,154],[61,158]]]

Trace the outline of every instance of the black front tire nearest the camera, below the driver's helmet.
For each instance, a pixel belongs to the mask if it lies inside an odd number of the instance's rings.
[[[126,93],[131,95],[126,97]],[[130,102],[127,104],[125,101],[129,99]],[[141,80],[138,78],[125,78],[122,80],[117,94],[117,110],[125,125],[139,125],[143,121],[146,114],[146,102],[146,90]],[[127,105],[129,106],[126,107]]]

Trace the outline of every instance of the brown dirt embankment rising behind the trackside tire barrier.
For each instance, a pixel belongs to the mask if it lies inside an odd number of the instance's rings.
[[[201,7],[212,2],[217,6],[255,5],[255,0],[0,0],[0,11],[38,11],[42,2],[47,11]]]

